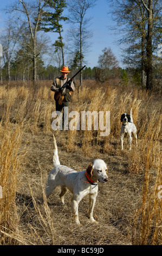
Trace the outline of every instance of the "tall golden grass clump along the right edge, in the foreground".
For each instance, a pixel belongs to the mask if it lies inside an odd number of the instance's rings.
[[[145,178],[142,190],[141,207],[135,214],[133,244],[161,245],[161,209],[158,187],[162,184],[161,175],[161,117],[155,120],[154,113],[148,123],[147,131],[141,137],[141,149],[137,169],[144,170]],[[131,158],[130,158],[131,159]],[[135,163],[135,161],[134,161]],[[134,164],[133,164],[134,167]],[[141,169],[140,169],[141,168]],[[152,169],[155,170],[153,175]],[[133,168],[132,168],[133,170]],[[135,170],[135,168],[134,168]],[[138,228],[137,228],[138,227]],[[138,233],[136,233],[138,230]]]

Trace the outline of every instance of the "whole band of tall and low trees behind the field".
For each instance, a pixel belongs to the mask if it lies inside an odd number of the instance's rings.
[[[7,7],[9,20],[0,36],[3,46],[1,83],[3,80],[32,80],[34,83],[53,80],[63,65],[69,66],[72,73],[85,65],[89,39],[93,36],[87,13],[95,3],[96,0],[15,0],[11,3]],[[160,86],[161,1],[107,0],[107,3],[107,11],[115,21],[114,29],[122,34],[119,44],[120,48],[124,45],[122,62],[126,68],[122,70],[111,48],[105,47],[97,66],[80,72],[80,85],[82,79],[105,82],[115,77],[127,83],[131,76],[144,89]],[[64,30],[67,35],[63,34]],[[49,44],[48,32],[58,35],[52,44]]]

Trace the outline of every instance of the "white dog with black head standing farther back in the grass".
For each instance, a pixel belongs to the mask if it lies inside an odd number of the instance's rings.
[[[132,108],[130,111],[130,115],[128,115],[127,113],[124,113],[121,115],[120,120],[122,122],[121,131],[120,131],[121,150],[123,150],[123,142],[124,142],[125,133],[128,133],[128,135],[129,135],[129,150],[131,150],[132,133],[134,134],[135,142],[137,145],[137,128],[135,127],[135,124],[133,124]]]

